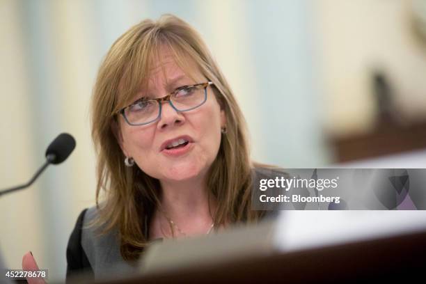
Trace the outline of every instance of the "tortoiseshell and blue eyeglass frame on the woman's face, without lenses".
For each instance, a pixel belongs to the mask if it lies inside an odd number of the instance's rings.
[[[159,104],[159,112],[158,112],[157,118],[154,118],[154,119],[148,121],[147,123],[130,123],[129,120],[127,120],[127,117],[125,115],[125,110],[128,107],[132,107],[134,104],[139,104],[139,102],[141,102],[141,98],[139,100],[136,100],[135,102],[132,102],[132,104],[129,104],[127,107],[123,107],[123,109],[120,109],[119,111],[117,111],[116,114],[120,113],[123,116],[123,118],[125,119],[125,121],[126,121],[126,123],[128,125],[132,125],[132,126],[148,125],[150,123],[153,123],[153,122],[157,121],[161,117],[161,105],[163,104],[163,102],[168,102],[168,104],[170,104],[171,107],[173,107],[173,109],[175,111],[178,111],[178,112],[191,111],[191,109],[196,109],[197,107],[200,107],[202,104],[204,104],[207,101],[207,87],[210,86],[210,85],[213,85],[212,81],[207,81],[205,83],[200,83],[200,84],[195,84],[195,85],[184,86],[183,88],[178,88],[176,90],[173,90],[172,93],[169,93],[168,95],[165,95],[164,97],[159,97],[157,99],[147,100],[146,102],[156,101]],[[204,100],[203,100],[203,102],[201,102],[200,104],[198,104],[196,107],[191,107],[189,109],[183,109],[183,110],[177,109],[173,105],[173,103],[171,101],[172,95],[175,95],[179,91],[184,90],[186,88],[194,88],[194,87],[197,87],[197,86],[203,86],[204,87]]]

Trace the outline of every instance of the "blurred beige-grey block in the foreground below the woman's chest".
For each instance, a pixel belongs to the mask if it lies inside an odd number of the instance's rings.
[[[244,226],[218,234],[187,239],[166,239],[148,248],[141,260],[145,273],[161,273],[189,267],[208,267],[226,261],[238,261],[253,255],[271,255],[276,223]]]

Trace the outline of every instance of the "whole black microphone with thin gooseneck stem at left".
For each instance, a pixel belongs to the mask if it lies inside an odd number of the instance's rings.
[[[38,178],[38,176],[45,171],[45,168],[49,166],[49,164],[61,164],[65,159],[70,156],[71,152],[75,148],[75,140],[74,137],[72,137],[68,133],[62,133],[59,134],[58,137],[52,143],[50,143],[49,147],[47,147],[46,150],[46,161],[45,164],[43,164],[36,174],[27,182],[26,184],[19,185],[17,187],[12,187],[10,189],[3,189],[0,191],[0,196],[3,194],[9,194],[10,192],[17,191],[19,189],[24,189],[26,187],[29,187],[33,182],[35,182]]]

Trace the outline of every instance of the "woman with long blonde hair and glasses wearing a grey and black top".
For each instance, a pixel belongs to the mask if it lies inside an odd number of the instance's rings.
[[[246,125],[203,40],[163,15],[112,45],[93,93],[97,206],[77,220],[68,274],[132,269],[155,239],[256,222]],[[118,265],[117,265],[118,264]]]

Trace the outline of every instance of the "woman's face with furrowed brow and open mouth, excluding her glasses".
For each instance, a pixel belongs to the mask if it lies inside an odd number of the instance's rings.
[[[141,88],[134,101],[140,97],[164,97],[182,86],[207,81],[200,72],[193,72],[191,79],[169,52],[162,52],[161,56],[162,62],[151,70],[148,86]],[[219,151],[225,123],[225,113],[209,86],[207,101],[196,109],[178,112],[164,102],[159,120],[139,126],[128,125],[120,116],[120,146],[142,171],[160,181],[203,178]],[[189,143],[168,149],[173,142],[182,143],[180,139]]]

